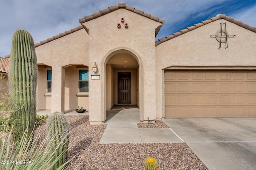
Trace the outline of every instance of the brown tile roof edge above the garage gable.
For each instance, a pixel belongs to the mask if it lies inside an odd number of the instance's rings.
[[[242,21],[235,20],[234,18],[226,16],[225,14],[218,14],[216,17],[210,18],[209,20],[202,21],[202,22],[197,23],[197,24],[195,24],[191,27],[187,27],[186,29],[182,29],[179,32],[173,33],[172,35],[168,35],[168,36],[166,36],[162,39],[158,39],[158,41],[156,41],[156,45],[159,45],[160,43],[163,43],[165,41],[173,39],[174,37],[178,37],[179,35],[182,35],[182,34],[188,32],[188,31],[192,31],[193,29],[196,29],[198,27],[201,27],[202,25],[206,25],[207,23],[216,21],[218,19],[224,19],[224,20],[230,21],[232,23],[235,23],[236,25],[239,25],[239,26],[241,26],[245,29],[248,29],[248,30],[253,31],[253,32],[256,33],[256,27],[252,27],[248,24],[242,23]]]

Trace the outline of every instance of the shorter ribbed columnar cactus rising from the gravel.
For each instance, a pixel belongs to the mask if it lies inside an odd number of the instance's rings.
[[[69,143],[69,130],[66,117],[63,113],[55,112],[50,115],[47,123],[47,131],[51,138],[54,138],[54,142],[49,141],[49,145],[58,149],[58,152],[52,157],[52,160],[56,160],[55,166],[52,168],[55,170],[67,161],[68,158],[68,143]],[[59,157],[59,154],[62,154]]]

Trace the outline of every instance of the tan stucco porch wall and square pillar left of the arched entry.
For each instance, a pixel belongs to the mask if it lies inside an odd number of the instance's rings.
[[[64,112],[64,90],[67,90],[67,88],[65,88],[65,68],[72,64],[88,66],[88,35],[84,29],[80,29],[36,47],[36,55],[39,65],[52,67],[52,112]],[[44,80],[38,80],[38,82],[41,81]],[[42,98],[41,93],[38,98]],[[66,100],[66,102],[69,101]],[[72,107],[75,105],[75,103],[68,103],[68,105],[69,104]],[[38,109],[39,108],[41,108],[41,106],[38,106]]]

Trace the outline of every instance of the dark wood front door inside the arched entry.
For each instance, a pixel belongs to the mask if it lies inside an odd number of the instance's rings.
[[[118,104],[131,103],[131,73],[118,72]]]

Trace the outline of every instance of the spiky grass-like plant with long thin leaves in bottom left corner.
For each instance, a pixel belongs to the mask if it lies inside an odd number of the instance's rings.
[[[15,145],[12,140],[12,130],[9,132],[5,129],[0,135],[0,160],[1,170],[51,170],[59,158],[66,153],[66,150],[59,153],[59,148],[63,143],[58,143],[56,147],[53,145],[47,145],[50,143],[56,143],[55,137],[42,138],[42,133],[39,129],[37,135],[28,133],[28,129],[25,130],[18,145]],[[56,160],[52,160],[53,156],[58,155]],[[70,162],[75,157],[70,158],[67,162],[64,162],[56,170],[66,170],[71,165]]]

